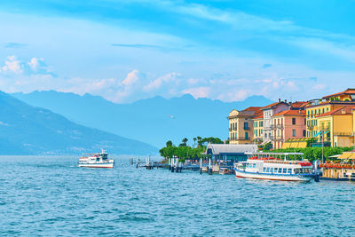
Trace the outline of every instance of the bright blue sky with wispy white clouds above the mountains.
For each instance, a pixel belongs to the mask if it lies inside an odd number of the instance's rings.
[[[2,0],[0,90],[307,100],[355,87],[355,0]]]

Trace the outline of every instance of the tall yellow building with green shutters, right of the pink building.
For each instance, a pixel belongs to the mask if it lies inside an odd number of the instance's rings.
[[[324,140],[326,146],[339,146],[338,142],[335,142],[334,136],[338,134],[338,131],[330,132],[330,126],[328,122],[331,122],[329,115],[335,110],[341,107],[355,106],[355,89],[347,89],[345,91],[335,93],[323,97],[322,99],[312,99],[310,103],[305,107],[306,110],[306,136],[307,138],[317,138],[318,144],[322,142],[322,134],[324,134]],[[327,116],[321,116],[325,115]],[[320,126],[319,117],[322,117],[321,121],[324,126]],[[330,124],[330,123],[329,123]],[[335,126],[335,130],[337,127]],[[339,131],[342,132],[342,131]],[[342,139],[340,139],[342,140]],[[346,144],[341,142],[341,144]]]

